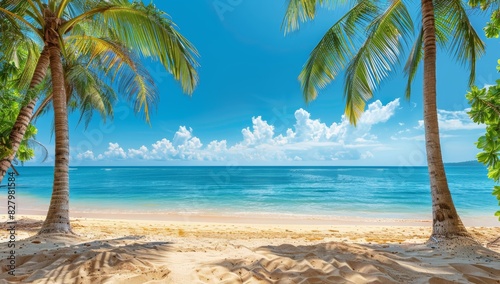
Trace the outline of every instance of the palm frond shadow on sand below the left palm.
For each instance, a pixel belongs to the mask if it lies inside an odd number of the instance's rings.
[[[4,224],[2,224],[4,225]],[[26,221],[23,230],[37,232],[41,222]],[[0,283],[145,283],[166,282],[164,262],[171,243],[145,242],[125,236],[88,241],[60,234],[17,240],[14,276],[9,274],[10,249],[2,247]]]

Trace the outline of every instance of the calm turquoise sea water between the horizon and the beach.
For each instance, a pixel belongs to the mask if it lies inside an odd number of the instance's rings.
[[[53,169],[21,167],[18,200],[48,204]],[[480,166],[449,166],[463,216],[498,210]],[[73,210],[223,214],[430,216],[425,167],[78,167],[70,171]]]

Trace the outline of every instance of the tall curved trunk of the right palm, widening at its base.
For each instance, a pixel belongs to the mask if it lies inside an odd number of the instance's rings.
[[[422,0],[424,29],[424,125],[431,182],[432,235],[430,241],[470,237],[453,204],[441,156],[436,104],[436,29],[432,0]]]

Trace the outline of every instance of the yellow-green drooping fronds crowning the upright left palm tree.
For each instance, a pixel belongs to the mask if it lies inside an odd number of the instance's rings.
[[[57,32],[63,58],[76,52],[86,55],[89,64],[99,61],[109,66],[104,70],[112,78],[109,82],[120,86],[119,92],[133,101],[136,111],[144,112],[147,121],[158,94],[134,57],[158,60],[187,94],[197,85],[197,50],[153,4],[127,0],[3,0],[1,4],[2,18],[29,30],[25,38],[38,42],[53,32],[46,23],[51,11],[60,19]]]

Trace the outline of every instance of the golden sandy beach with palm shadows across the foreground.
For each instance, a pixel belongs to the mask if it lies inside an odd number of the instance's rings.
[[[437,250],[428,222],[80,217],[70,238],[36,236],[43,218],[18,216],[15,276],[0,236],[0,283],[500,283],[498,226],[468,228],[480,246]]]

